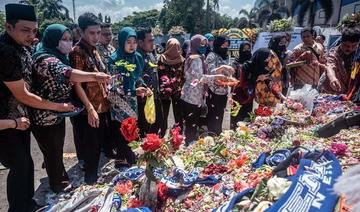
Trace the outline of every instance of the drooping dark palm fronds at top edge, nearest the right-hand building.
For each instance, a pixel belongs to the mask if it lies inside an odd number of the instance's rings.
[[[323,9],[325,12],[325,23],[327,23],[334,11],[334,4],[332,0],[293,0],[291,6],[292,15],[298,12],[298,24],[300,26],[304,23],[306,13],[309,13],[308,24],[313,27],[315,22],[316,11]]]

